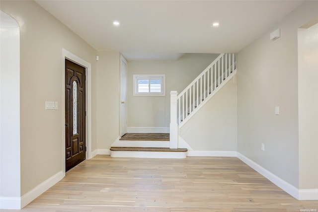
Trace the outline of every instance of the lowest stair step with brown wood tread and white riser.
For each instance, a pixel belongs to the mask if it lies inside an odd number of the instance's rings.
[[[186,158],[186,148],[156,148],[156,147],[111,147],[111,157],[137,158]]]

